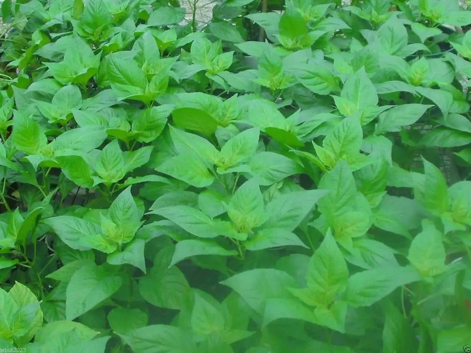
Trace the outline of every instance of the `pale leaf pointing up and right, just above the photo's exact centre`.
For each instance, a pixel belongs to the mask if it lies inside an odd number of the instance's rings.
[[[255,154],[259,136],[260,129],[252,128],[232,137],[221,148],[219,166],[227,169]]]

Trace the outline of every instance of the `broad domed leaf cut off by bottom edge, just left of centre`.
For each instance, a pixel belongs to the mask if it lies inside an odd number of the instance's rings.
[[[170,325],[151,325],[119,334],[134,351],[188,353],[197,351],[190,333]]]

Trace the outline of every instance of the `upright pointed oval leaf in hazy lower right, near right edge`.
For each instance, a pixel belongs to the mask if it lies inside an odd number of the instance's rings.
[[[424,277],[436,276],[445,271],[446,252],[442,234],[432,222],[423,220],[422,232],[410,244],[407,258]]]

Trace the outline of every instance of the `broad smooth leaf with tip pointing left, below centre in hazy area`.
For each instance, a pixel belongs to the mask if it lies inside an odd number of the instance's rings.
[[[286,272],[275,269],[254,269],[238,273],[220,282],[235,290],[257,313],[263,315],[269,299],[289,299],[286,289],[295,280]]]

